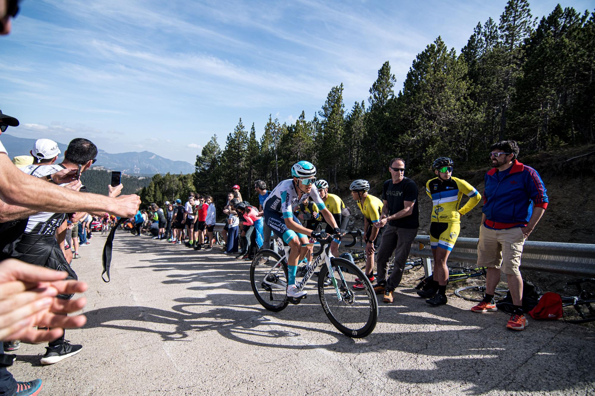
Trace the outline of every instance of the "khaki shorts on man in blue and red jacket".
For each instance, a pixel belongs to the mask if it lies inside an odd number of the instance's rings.
[[[521,227],[492,230],[482,224],[477,242],[477,266],[500,268],[507,275],[521,275],[519,266],[524,244]]]

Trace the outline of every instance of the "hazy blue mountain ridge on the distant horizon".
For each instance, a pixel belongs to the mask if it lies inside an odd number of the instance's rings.
[[[17,155],[29,155],[29,151],[33,148],[33,144],[37,139],[27,139],[3,133],[0,140],[6,147],[8,155],[12,158]],[[64,159],[64,150],[68,147],[68,144],[58,143],[58,147],[60,147],[61,152],[58,157],[58,162],[60,162]],[[154,175],[156,173],[166,174],[167,172],[187,174],[195,171],[195,167],[186,161],[172,161],[149,151],[112,154],[99,149],[99,147],[95,166],[103,166],[112,171],[120,171],[129,175]]]

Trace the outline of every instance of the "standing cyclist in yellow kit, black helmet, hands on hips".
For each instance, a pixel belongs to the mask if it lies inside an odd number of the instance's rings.
[[[461,216],[473,209],[481,200],[481,194],[465,180],[452,177],[454,162],[448,157],[437,158],[432,164],[436,178],[428,180],[425,191],[433,202],[430,223],[430,247],[434,256],[434,280],[438,290],[418,291],[419,296],[428,298],[426,303],[433,306],[446,304],[446,284],[448,268],[446,260],[455,246],[461,231]],[[469,197],[459,209],[463,194]]]

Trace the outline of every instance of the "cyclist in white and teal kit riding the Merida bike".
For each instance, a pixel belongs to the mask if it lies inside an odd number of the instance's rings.
[[[274,234],[283,238],[289,244],[291,250],[287,259],[287,296],[300,298],[306,295],[306,291],[297,291],[295,276],[297,263],[303,260],[308,252],[308,247],[302,244],[309,242],[308,237],[326,238],[324,231],[315,232],[305,228],[299,219],[293,215],[293,208],[308,197],[311,197],[324,219],[327,221],[336,234],[341,234],[337,227],[332,213],[326,208],[317,188],[316,168],[308,161],[300,161],[292,166],[293,178],[283,180],[271,191],[271,194],[262,204],[264,209],[265,224],[271,227]]]

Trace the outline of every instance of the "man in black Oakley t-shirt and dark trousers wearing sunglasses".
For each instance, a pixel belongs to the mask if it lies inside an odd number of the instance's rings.
[[[405,161],[402,159],[390,161],[389,170],[392,178],[385,181],[382,187],[382,214],[380,220],[374,223],[377,228],[386,225],[376,259],[378,284],[374,286],[376,294],[384,294],[385,303],[393,302],[393,291],[401,282],[403,268],[419,228],[417,184],[405,177]],[[394,268],[386,279],[386,263],[393,251]]]

